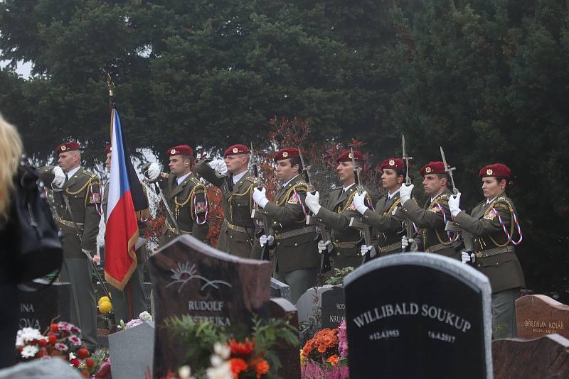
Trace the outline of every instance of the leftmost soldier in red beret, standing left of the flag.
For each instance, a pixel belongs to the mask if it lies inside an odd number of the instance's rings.
[[[97,347],[97,302],[90,255],[95,251],[101,219],[101,181],[80,166],[76,142],[55,148],[58,166],[41,167],[40,177],[54,191],[56,221],[63,233],[61,281],[70,282],[70,322],[80,327],[85,347]],[[87,258],[87,256],[89,258]],[[98,258],[97,256],[95,256]]]

